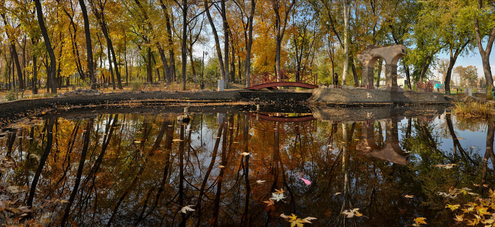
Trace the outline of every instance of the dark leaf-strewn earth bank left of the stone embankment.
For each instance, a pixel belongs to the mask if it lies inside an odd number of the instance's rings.
[[[24,99],[0,103],[0,128],[28,117],[49,117],[70,113],[103,112],[152,112],[181,113],[190,106],[196,113],[228,113],[234,111],[256,111],[256,104],[263,104],[264,111],[287,110],[287,112],[309,112],[303,102],[306,96],[294,100],[287,94],[277,92],[276,99],[241,97],[241,90],[187,91],[187,92],[136,92],[115,93],[99,96],[57,97]],[[286,101],[284,101],[284,99]],[[301,102],[302,101],[302,102]],[[123,110],[126,109],[126,110]],[[128,109],[128,110],[127,110]],[[77,115],[76,113],[76,115]]]

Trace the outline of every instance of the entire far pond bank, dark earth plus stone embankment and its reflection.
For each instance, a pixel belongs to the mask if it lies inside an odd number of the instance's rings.
[[[396,101],[390,102],[391,99]],[[182,113],[186,106],[189,106],[189,112],[192,113],[313,112],[320,119],[337,117],[349,120],[386,118],[394,114],[439,113],[441,110],[436,108],[404,106],[431,107],[445,106],[447,103],[444,96],[438,93],[396,94],[359,89],[124,92],[0,103],[0,128],[25,117],[78,117],[78,114],[84,117],[96,113]]]

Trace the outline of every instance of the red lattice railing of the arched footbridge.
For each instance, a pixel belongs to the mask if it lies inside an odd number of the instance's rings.
[[[251,86],[275,82],[300,82],[318,86],[318,74],[304,71],[280,70],[251,75]]]

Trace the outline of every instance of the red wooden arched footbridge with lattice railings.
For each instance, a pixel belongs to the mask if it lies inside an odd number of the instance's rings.
[[[246,89],[277,89],[277,87],[318,88],[318,74],[304,71],[271,71],[251,75],[251,86]]]

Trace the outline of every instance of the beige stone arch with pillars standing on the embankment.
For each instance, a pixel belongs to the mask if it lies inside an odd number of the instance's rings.
[[[392,91],[397,91],[397,62],[405,55],[405,46],[402,44],[371,48],[357,55],[357,59],[363,65],[363,85],[373,87],[373,65],[380,57],[385,60],[385,83]]]

